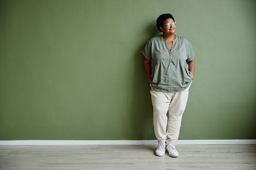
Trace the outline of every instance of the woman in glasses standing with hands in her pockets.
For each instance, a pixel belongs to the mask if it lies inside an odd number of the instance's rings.
[[[156,26],[162,35],[151,38],[142,51],[158,140],[155,154],[163,156],[167,149],[170,156],[178,157],[175,143],[194,78],[195,53],[188,40],[175,35],[176,23],[172,15],[160,15]]]

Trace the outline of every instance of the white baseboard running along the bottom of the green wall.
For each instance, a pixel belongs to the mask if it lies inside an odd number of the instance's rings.
[[[157,144],[157,140],[0,140],[0,145],[135,145]],[[178,140],[176,144],[256,144],[243,140]]]

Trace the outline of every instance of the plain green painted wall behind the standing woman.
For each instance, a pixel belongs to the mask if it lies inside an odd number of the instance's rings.
[[[196,53],[180,139],[256,139],[256,1],[0,1],[0,140],[155,139],[140,53]]]

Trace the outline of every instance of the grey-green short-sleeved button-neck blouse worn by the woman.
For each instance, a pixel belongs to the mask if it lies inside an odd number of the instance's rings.
[[[161,35],[151,38],[143,51],[151,61],[151,87],[158,92],[181,92],[188,88],[193,75],[188,63],[195,58],[195,52],[188,40],[177,36],[169,50]]]

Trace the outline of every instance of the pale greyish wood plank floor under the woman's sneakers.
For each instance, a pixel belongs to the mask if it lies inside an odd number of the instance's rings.
[[[0,169],[256,169],[256,145],[2,145]]]

